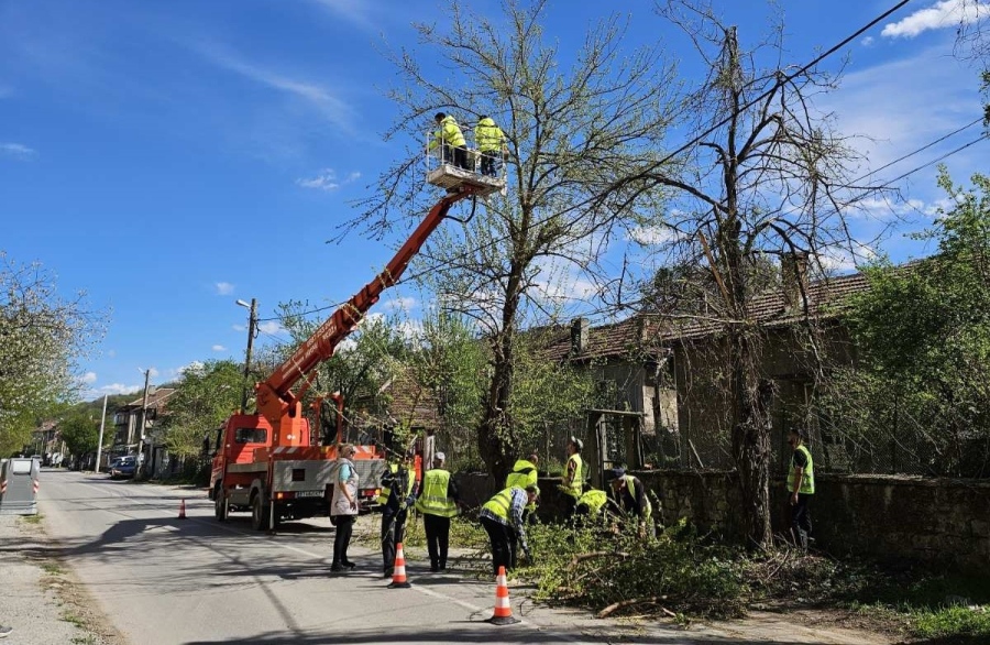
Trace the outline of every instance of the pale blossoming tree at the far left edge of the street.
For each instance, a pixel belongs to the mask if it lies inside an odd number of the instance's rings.
[[[41,264],[0,251],[0,455],[20,450],[38,418],[76,398],[78,361],[103,325],[82,294],[59,297]]]

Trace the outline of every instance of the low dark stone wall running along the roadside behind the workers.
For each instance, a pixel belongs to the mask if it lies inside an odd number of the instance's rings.
[[[651,499],[653,515],[664,525],[685,517],[705,532],[741,540],[738,509],[743,500],[732,471],[634,472]],[[812,502],[815,548],[878,560],[913,560],[990,575],[990,482],[898,475],[816,475]],[[480,505],[497,490],[485,475],[459,475],[462,498]],[[560,517],[559,478],[540,479],[544,520]],[[790,529],[788,494],[782,479],[771,482],[774,534]],[[654,506],[656,506],[654,501]]]

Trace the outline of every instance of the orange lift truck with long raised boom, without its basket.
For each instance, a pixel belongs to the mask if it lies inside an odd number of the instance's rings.
[[[302,414],[302,397],[312,384],[316,368],[333,356],[382,292],[398,282],[451,206],[466,197],[484,197],[505,185],[480,176],[455,179],[457,185],[446,186],[448,195],[433,205],[385,270],[338,308],[267,380],[255,385],[257,412],[232,415],[209,439],[213,460],[209,495],[217,520],[226,521],[230,511],[250,510],[252,525],[262,531],[282,520],[326,514],[337,447],[314,440]],[[439,185],[432,178],[428,181]],[[332,398],[340,415],[342,402],[337,395]],[[338,441],[339,435],[340,424]],[[376,494],[385,467],[373,446],[360,448],[355,460],[362,481],[359,495],[367,502]]]

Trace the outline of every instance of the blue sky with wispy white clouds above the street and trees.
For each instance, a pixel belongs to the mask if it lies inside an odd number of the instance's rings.
[[[766,33],[762,3],[715,4],[744,45]],[[811,61],[893,4],[781,0],[782,58]],[[844,132],[875,140],[862,143],[872,167],[979,117],[977,70],[952,56],[956,4],[913,0],[845,52],[845,80],[825,107]],[[571,52],[607,6],[556,0],[546,32]],[[471,7],[497,14],[494,2]],[[632,18],[626,44],[670,37],[682,74],[701,73],[651,2],[622,7]],[[443,20],[441,4],[393,0],[0,0],[0,250],[41,262],[64,296],[85,291],[110,310],[98,356],[81,365],[87,398],[135,391],[143,369],[162,383],[195,361],[240,360],[248,311],[238,298],[257,298],[272,318],[279,302],[342,300],[381,270],[399,239],[326,242],[409,143],[381,136],[396,114],[383,96],[385,43],[415,51],[410,23]],[[965,182],[988,172],[988,158],[985,141],[946,163]],[[925,252],[903,233],[942,198],[934,177],[932,167],[904,183],[911,203],[893,208],[912,222],[882,248],[895,260]],[[864,222],[864,239],[883,221]],[[388,298],[414,318],[424,306],[411,289]],[[272,334],[268,321],[258,342]]]

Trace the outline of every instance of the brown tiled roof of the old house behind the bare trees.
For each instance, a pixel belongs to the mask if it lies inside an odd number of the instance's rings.
[[[867,278],[861,273],[812,282],[806,294],[809,316],[816,319],[833,317],[834,307],[846,297],[867,288]],[[630,356],[650,347],[703,338],[723,329],[724,324],[714,316],[674,318],[660,314],[637,314],[622,322],[591,327],[587,349],[576,354],[571,349],[570,328],[556,328],[548,338],[546,356],[554,361]],[[763,327],[778,327],[803,319],[804,311],[800,304],[788,307],[783,293],[776,291],[754,298],[750,302],[749,317]]]

